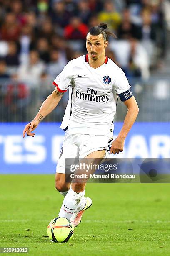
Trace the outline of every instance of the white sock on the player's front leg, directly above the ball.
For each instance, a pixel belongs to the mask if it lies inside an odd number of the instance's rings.
[[[85,190],[80,193],[76,193],[70,187],[70,189],[67,192],[67,195],[65,196],[62,202],[62,206],[58,216],[65,217],[70,220],[70,218],[72,217],[72,214],[77,209],[77,206],[79,205],[84,195],[85,195]]]

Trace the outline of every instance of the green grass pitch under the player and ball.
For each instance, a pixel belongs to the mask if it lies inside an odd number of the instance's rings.
[[[47,237],[63,200],[54,175],[1,175],[0,191],[0,247],[36,256],[170,255],[170,184],[87,184],[93,204],[68,243]]]

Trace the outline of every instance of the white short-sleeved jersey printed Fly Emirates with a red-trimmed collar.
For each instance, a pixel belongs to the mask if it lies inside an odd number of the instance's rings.
[[[133,96],[122,69],[107,57],[94,69],[88,63],[88,54],[71,60],[53,84],[60,92],[69,88],[60,126],[69,134],[111,135],[117,95],[122,101]]]

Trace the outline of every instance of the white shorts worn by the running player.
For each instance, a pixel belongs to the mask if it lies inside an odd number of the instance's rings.
[[[57,173],[65,174],[65,159],[84,158],[94,151],[105,149],[109,152],[113,138],[104,135],[89,134],[67,134],[65,133],[64,141],[57,160]]]

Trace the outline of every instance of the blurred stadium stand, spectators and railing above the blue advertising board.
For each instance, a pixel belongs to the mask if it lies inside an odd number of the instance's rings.
[[[99,23],[118,37],[106,54],[133,87],[138,120],[167,121],[169,0],[0,0],[0,120],[30,120],[65,64],[86,53],[86,34]],[[46,120],[61,121],[66,104],[67,94]],[[124,113],[122,106],[116,119]]]

